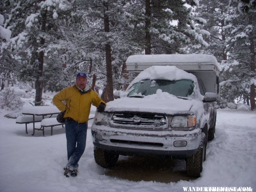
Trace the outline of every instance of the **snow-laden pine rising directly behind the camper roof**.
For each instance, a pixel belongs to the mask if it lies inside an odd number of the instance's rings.
[[[138,42],[145,54],[182,53],[181,48],[192,43],[208,46],[197,22],[204,19],[192,14],[195,0],[134,0],[132,12]],[[142,36],[143,34],[143,36]]]

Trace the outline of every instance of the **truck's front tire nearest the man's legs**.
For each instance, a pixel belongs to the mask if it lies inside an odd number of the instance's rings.
[[[118,157],[119,154],[116,154],[113,151],[94,147],[94,160],[97,164],[104,168],[113,167],[116,164]]]

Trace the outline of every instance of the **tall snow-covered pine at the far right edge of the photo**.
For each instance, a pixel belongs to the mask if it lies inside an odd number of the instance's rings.
[[[228,83],[237,90],[237,97],[250,101],[251,110],[255,105],[255,43],[256,43],[256,12],[254,8],[244,7],[241,1],[233,1],[234,14],[226,19],[225,28],[228,38],[227,51],[229,62],[226,69],[232,70]],[[245,4],[246,6],[246,4]],[[247,12],[242,12],[246,10]]]

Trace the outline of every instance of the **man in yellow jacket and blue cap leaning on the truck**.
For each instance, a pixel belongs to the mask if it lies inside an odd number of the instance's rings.
[[[64,175],[77,176],[78,161],[86,145],[91,104],[98,107],[98,112],[103,112],[106,103],[87,85],[87,77],[83,72],[77,74],[76,85],[60,91],[52,101],[59,110],[65,111],[68,164],[64,167]]]

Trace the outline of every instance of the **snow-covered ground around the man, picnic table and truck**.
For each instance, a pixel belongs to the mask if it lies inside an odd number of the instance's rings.
[[[219,109],[216,137],[208,143],[202,176],[169,183],[108,176],[108,170],[94,161],[90,129],[78,176],[66,178],[64,129],[56,127],[50,136],[50,128],[46,128],[45,137],[40,131],[32,136],[32,124],[26,134],[25,125],[5,118],[7,113],[10,111],[0,111],[0,192],[180,192],[184,186],[256,190],[256,112]],[[91,124],[92,120],[89,128]],[[161,175],[165,176],[170,174]]]

